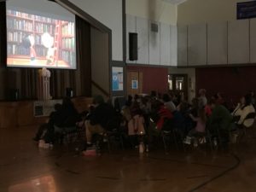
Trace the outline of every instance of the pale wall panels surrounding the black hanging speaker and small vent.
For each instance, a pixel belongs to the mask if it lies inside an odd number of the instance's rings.
[[[151,23],[158,32],[151,31]],[[137,32],[137,61],[129,60],[129,32]],[[177,66],[177,26],[126,15],[126,42],[127,63]]]

